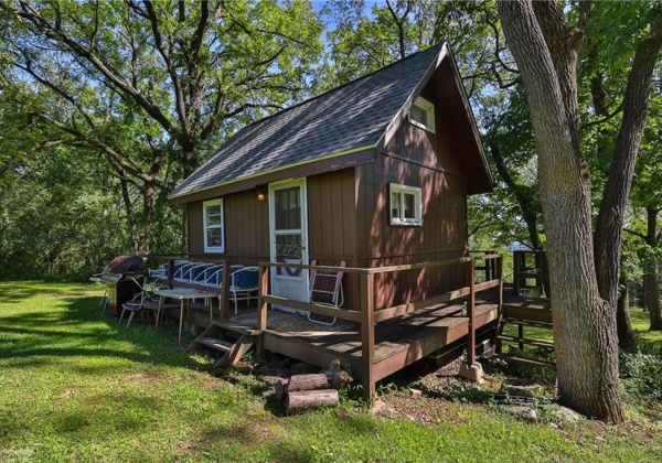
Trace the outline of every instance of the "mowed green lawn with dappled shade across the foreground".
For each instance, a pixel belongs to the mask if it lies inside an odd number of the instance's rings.
[[[662,430],[640,416],[555,429],[449,402],[423,426],[345,402],[285,417],[258,379],[211,376],[173,330],[120,326],[102,292],[0,282],[0,461],[662,460]]]

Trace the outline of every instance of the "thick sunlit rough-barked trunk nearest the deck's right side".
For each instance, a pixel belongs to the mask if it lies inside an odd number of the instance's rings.
[[[576,410],[621,422],[616,316],[598,291],[590,181],[578,141],[575,69],[581,41],[556,3],[535,10],[531,1],[499,2],[503,31],[526,87],[538,151],[558,394]]]

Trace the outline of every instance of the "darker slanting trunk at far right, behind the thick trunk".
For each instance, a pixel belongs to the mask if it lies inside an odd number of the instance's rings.
[[[632,186],[634,164],[649,105],[658,55],[662,47],[662,18],[637,47],[623,100],[623,119],[616,141],[609,179],[596,222],[595,254],[600,295],[617,312],[621,260],[621,235],[626,206]]]

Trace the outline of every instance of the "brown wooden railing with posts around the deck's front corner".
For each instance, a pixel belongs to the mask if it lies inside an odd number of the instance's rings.
[[[476,282],[476,261],[482,261],[483,267],[493,269],[490,279],[480,283]],[[447,266],[462,266],[466,272],[467,284],[456,288],[442,294],[434,295],[425,300],[407,302],[385,309],[375,310],[375,276],[383,273],[402,272],[409,270],[433,269]],[[300,270],[327,270],[343,271],[357,274],[360,280],[360,310],[333,309],[310,302],[297,301],[269,293],[269,272],[271,268],[288,268]],[[479,267],[480,268],[480,267]],[[362,349],[362,380],[363,391],[366,398],[372,399],[375,392],[375,379],[373,375],[374,349],[375,349],[375,324],[403,316],[421,309],[431,308],[441,303],[450,302],[460,298],[467,298],[467,316],[469,319],[469,335],[467,336],[467,362],[469,365],[476,363],[476,293],[491,288],[498,289],[496,303],[501,310],[503,294],[503,260],[498,254],[483,254],[477,257],[462,257],[436,262],[412,263],[403,266],[389,266],[377,268],[348,268],[330,266],[308,266],[281,262],[261,262],[259,265],[259,293],[258,293],[258,327],[260,331],[267,329],[268,304],[278,304],[290,309],[327,315],[340,320],[359,323],[361,325],[361,349]],[[258,352],[258,355],[261,353]]]

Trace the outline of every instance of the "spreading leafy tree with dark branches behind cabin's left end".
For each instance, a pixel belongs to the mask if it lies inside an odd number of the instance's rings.
[[[31,116],[103,154],[140,252],[173,184],[238,126],[296,99],[321,50],[299,0],[15,0],[0,12],[3,78],[54,95]]]

